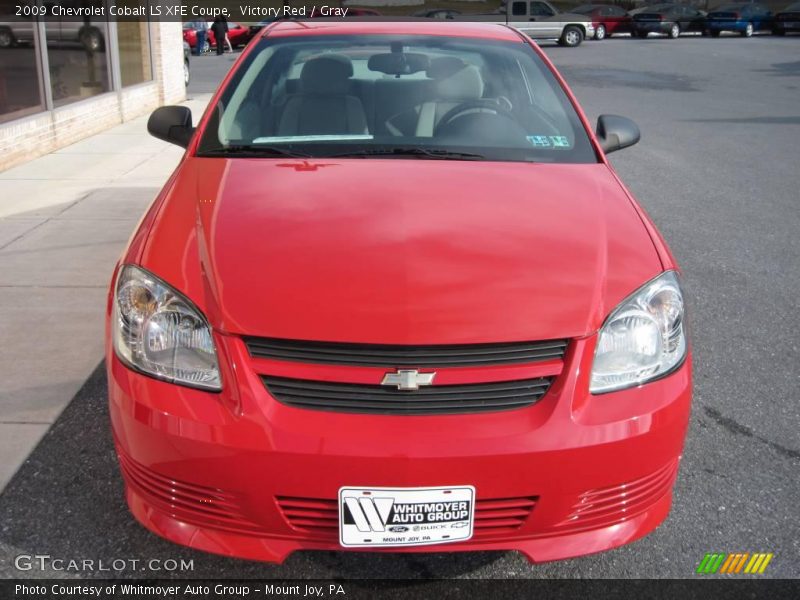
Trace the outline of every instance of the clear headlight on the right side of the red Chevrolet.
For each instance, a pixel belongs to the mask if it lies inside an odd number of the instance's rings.
[[[675,369],[686,356],[683,294],[674,271],[645,284],[622,302],[600,329],[589,391],[646,383]]]

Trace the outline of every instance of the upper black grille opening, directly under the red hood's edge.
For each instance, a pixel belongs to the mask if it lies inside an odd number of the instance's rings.
[[[376,367],[480,367],[559,360],[567,340],[502,344],[393,346],[245,338],[256,358],[302,363]]]

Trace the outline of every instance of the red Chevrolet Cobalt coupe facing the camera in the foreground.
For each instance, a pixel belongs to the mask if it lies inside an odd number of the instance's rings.
[[[283,21],[116,268],[128,505],[209,552],[607,550],[667,516],[692,377],[675,260],[527,37]]]

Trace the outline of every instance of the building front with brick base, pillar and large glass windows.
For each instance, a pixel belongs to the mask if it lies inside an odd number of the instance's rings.
[[[179,22],[0,19],[0,171],[185,97]]]

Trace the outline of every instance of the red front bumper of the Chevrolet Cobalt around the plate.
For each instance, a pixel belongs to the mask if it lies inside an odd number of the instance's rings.
[[[531,561],[556,560],[631,542],[669,511],[690,410],[688,359],[659,381],[591,396],[595,339],[573,340],[560,375],[533,406],[360,415],[285,406],[258,376],[294,369],[331,378],[331,367],[253,359],[239,338],[216,338],[219,394],[135,373],[108,348],[128,504],[145,527],[174,542],[271,562],[296,550],[342,550],[342,486],[475,486],[472,539],[375,551],[517,550]],[[368,370],[342,368],[357,377]],[[494,375],[537,368],[498,367]],[[455,371],[449,375],[470,376],[468,368]]]

